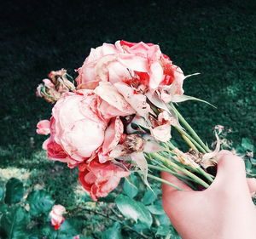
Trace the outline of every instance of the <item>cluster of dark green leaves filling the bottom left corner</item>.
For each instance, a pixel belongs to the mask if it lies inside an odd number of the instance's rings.
[[[3,194],[3,190],[1,192]],[[49,211],[54,201],[47,191],[32,191],[26,198],[26,209],[25,203],[20,201],[23,193],[24,188],[20,180],[9,179],[5,195],[5,202],[9,207],[0,203],[0,213],[3,213],[0,221],[0,238],[42,239],[46,236],[49,239],[70,239],[79,235],[79,219],[66,219],[58,231],[49,225]]]

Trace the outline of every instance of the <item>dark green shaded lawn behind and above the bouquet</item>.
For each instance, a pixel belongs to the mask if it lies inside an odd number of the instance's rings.
[[[51,70],[82,65],[90,48],[125,39],[160,44],[185,74],[185,94],[218,106],[184,102],[180,111],[204,140],[216,124],[230,137],[256,139],[255,1],[8,1],[1,3],[1,160],[40,149],[36,124],[51,105],[35,96]],[[32,141],[35,144],[32,144]],[[6,153],[6,152],[9,153]],[[15,160],[16,159],[16,160]],[[16,163],[15,163],[16,162]]]

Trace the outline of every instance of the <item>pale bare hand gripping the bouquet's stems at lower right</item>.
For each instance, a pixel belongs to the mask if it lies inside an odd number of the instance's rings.
[[[193,191],[172,176],[162,178],[163,208],[183,239],[255,239],[256,208],[251,199],[256,179],[246,179],[244,162],[230,151],[217,155],[218,172],[205,191]]]

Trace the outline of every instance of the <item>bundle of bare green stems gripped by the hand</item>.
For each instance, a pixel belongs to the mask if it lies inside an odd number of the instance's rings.
[[[163,151],[144,153],[148,161],[148,169],[149,171],[157,170],[173,174],[177,179],[182,180],[194,190],[206,189],[211,185],[214,176],[208,174],[205,168],[201,166],[199,156],[210,153],[211,151],[173,104],[171,104],[171,108],[180,123],[179,126],[174,126],[174,128],[176,128],[177,132],[182,136],[184,142],[189,145],[190,151],[193,151],[195,154],[195,160],[191,160],[183,151],[178,150],[177,147],[169,141],[163,144]],[[171,185],[177,190],[182,190],[177,185],[172,184],[172,182],[161,179],[153,174],[148,174],[148,178]]]

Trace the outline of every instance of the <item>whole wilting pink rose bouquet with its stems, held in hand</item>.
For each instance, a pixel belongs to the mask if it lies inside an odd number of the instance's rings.
[[[191,75],[184,76],[158,45],[103,43],[77,72],[77,86],[64,69],[51,71],[38,86],[37,95],[55,105],[50,120],[38,122],[37,133],[50,134],[43,145],[50,159],[79,168],[79,181],[94,201],[135,171],[148,187],[148,178],[172,185],[150,174],[154,169],[192,188],[211,184],[206,168],[216,163],[219,140],[210,151],[177,111],[175,103],[198,99],[183,94]],[[172,144],[172,128],[188,151]]]

